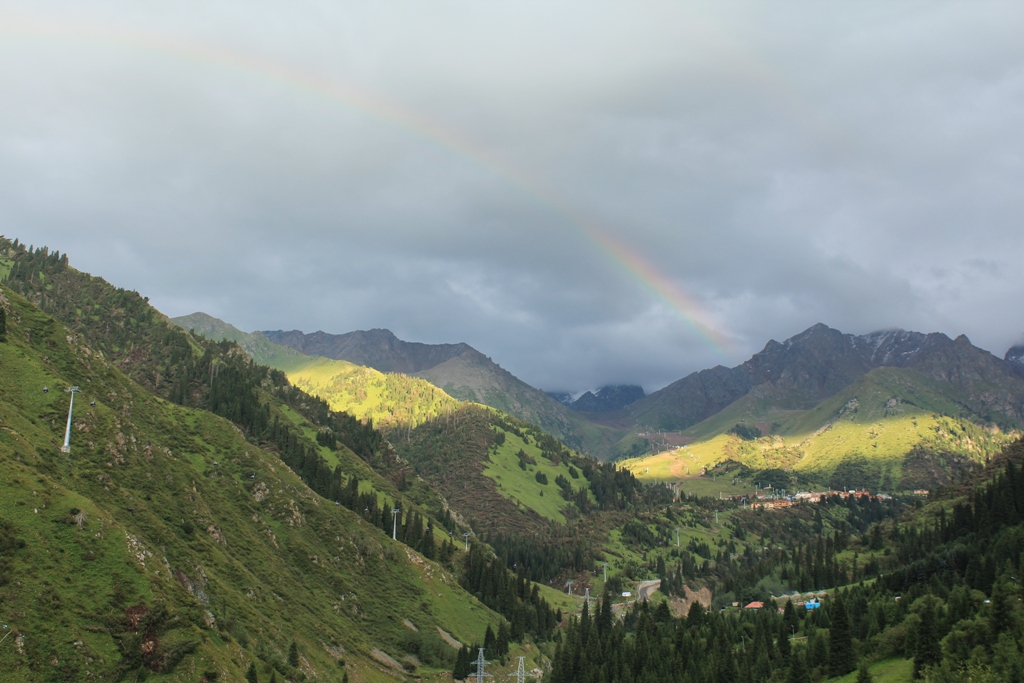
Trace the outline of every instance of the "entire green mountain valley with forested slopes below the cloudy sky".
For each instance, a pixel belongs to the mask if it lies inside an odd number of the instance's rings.
[[[169,321],[6,240],[0,266],[0,680],[1024,667],[1012,353],[820,326],[586,413],[466,345]]]

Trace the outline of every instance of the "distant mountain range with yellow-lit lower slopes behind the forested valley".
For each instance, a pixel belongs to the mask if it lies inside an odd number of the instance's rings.
[[[452,404],[442,408],[443,398],[430,398],[430,390],[409,385],[426,381],[454,399],[487,404],[538,424],[597,457],[632,458],[628,465],[640,478],[691,476],[732,459],[756,469],[780,466],[830,479],[842,478],[849,463],[856,462],[867,472],[860,477],[865,485],[928,485],[948,479],[966,463],[983,460],[1024,424],[1020,347],[1000,359],[965,336],[950,339],[903,330],[851,335],[815,325],[783,342],[769,341],[735,368],[692,373],[649,395],[640,387],[613,385],[572,400],[528,386],[467,344],[404,342],[386,330],[242,333],[201,313],[175,322],[216,339],[239,341],[254,358],[286,370],[298,386],[324,396],[336,410],[383,420],[385,427],[415,426],[452,410]],[[313,362],[300,353],[343,359]],[[357,372],[355,366],[344,365],[348,362],[369,368]],[[367,372],[378,371],[384,374],[368,379]],[[368,393],[368,381],[379,388]],[[368,395],[361,403],[357,400]],[[382,395],[389,397],[386,410],[381,408]],[[837,401],[859,405],[868,395],[901,407],[897,412],[909,422],[890,429],[881,440],[879,421],[889,419],[893,427],[896,409],[864,410],[841,423],[842,429],[836,426],[839,409],[828,407]],[[920,414],[908,417],[909,405]],[[381,410],[374,413],[374,407]],[[947,429],[943,420],[958,421],[959,428]],[[975,429],[969,424],[978,430],[970,443],[941,436]],[[744,444],[730,433],[737,428],[745,434],[754,429],[774,441],[770,447]],[[826,447],[815,436],[822,430],[830,430],[838,440]],[[682,445],[689,458],[685,463],[678,457]],[[755,457],[755,452],[760,455]],[[636,460],[645,453],[655,458],[653,470],[648,459]],[[666,455],[658,456],[662,453]],[[870,458],[864,460],[865,454]]]

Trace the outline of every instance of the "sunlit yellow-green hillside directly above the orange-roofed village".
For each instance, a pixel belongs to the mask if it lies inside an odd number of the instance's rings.
[[[764,435],[729,433],[750,430]],[[785,396],[752,391],[680,432],[685,444],[622,465],[641,479],[680,479],[732,460],[836,485],[929,487],[948,481],[953,467],[984,463],[1017,436],[972,412],[948,383],[879,368],[807,411],[790,409]]]

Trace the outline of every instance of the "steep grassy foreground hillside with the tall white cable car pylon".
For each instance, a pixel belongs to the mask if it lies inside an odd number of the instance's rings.
[[[0,592],[13,634],[0,680],[242,680],[255,664],[261,680],[274,668],[279,680],[373,681],[401,677],[382,653],[414,667],[414,650],[430,676],[425,660],[452,651],[435,627],[470,641],[498,624],[446,570],[310,492],[226,420],[154,396],[0,291]],[[73,384],[60,454],[59,389]]]

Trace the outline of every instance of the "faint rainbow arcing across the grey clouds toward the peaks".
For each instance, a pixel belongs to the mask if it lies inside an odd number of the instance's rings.
[[[60,40],[110,45],[119,49],[127,48],[170,56],[179,61],[193,62],[203,67],[212,65],[221,70],[256,76],[287,88],[313,93],[343,106],[356,110],[409,134],[425,139],[472,165],[482,167],[530,197],[535,202],[572,226],[623,273],[672,309],[713,350],[719,354],[730,350],[729,337],[721,331],[720,326],[701,308],[694,297],[689,296],[638,253],[612,238],[593,221],[581,216],[578,211],[573,210],[567,202],[555,195],[550,188],[531,180],[484,147],[470,142],[437,122],[397,106],[372,93],[345,86],[308,71],[254,55],[110,27],[7,16],[0,19],[0,38],[3,36],[29,40]]]

